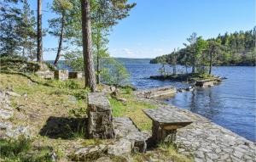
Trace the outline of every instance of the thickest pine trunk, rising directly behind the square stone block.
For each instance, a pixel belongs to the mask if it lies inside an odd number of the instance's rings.
[[[91,92],[96,92],[96,75],[93,64],[90,27],[90,0],[81,0],[81,8],[85,87],[89,87]]]

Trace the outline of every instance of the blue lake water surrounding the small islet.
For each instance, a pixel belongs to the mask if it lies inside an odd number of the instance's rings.
[[[148,59],[119,60],[131,73],[131,83],[137,88],[188,86],[180,82],[147,79],[150,75],[159,75],[160,68],[160,64],[148,64]],[[214,67],[214,75],[225,76],[228,79],[218,86],[177,93],[174,98],[168,98],[166,102],[203,115],[218,125],[255,142],[255,69],[255,67]],[[181,67],[179,70],[183,71]]]

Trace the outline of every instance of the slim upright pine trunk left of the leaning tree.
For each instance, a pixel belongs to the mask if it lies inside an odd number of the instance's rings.
[[[42,2],[38,0],[38,53],[37,61],[42,62],[43,58],[43,42],[42,42]]]

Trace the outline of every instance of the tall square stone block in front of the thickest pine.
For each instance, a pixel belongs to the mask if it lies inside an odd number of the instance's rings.
[[[114,137],[112,109],[104,93],[88,93],[87,115],[87,136],[89,138]]]

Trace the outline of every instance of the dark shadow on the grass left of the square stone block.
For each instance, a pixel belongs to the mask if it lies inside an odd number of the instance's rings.
[[[54,139],[85,137],[86,123],[87,119],[50,116],[39,134]]]

